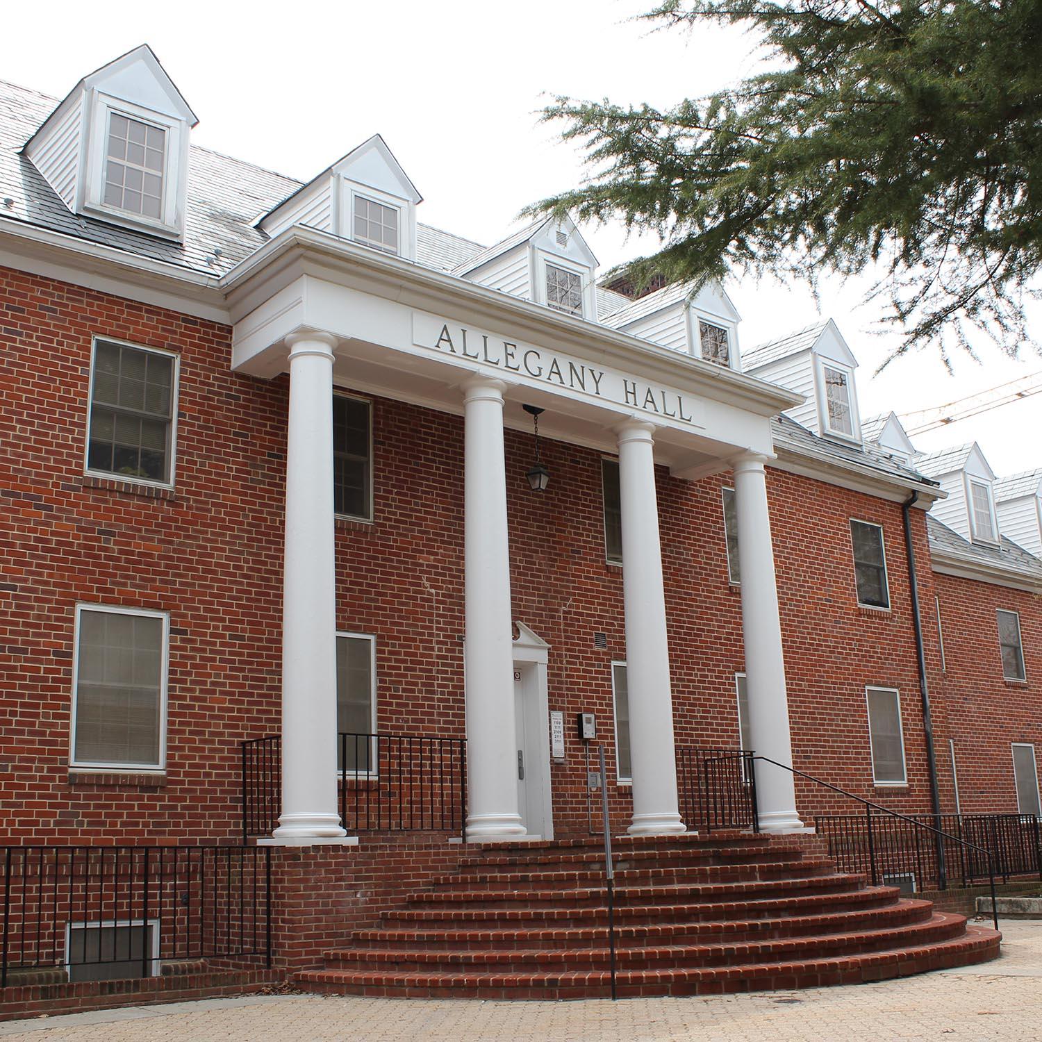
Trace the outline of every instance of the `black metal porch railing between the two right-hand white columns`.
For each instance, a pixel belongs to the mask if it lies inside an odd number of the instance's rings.
[[[752,758],[749,749],[676,747],[680,817],[689,828],[760,830]]]

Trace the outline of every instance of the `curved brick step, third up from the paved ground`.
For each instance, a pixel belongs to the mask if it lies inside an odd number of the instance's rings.
[[[738,922],[669,922],[643,926],[616,927],[616,941],[626,947],[641,945],[708,944],[759,942],[801,937],[808,934],[827,937],[832,934],[859,929],[926,922],[933,915],[927,901],[886,905],[867,912],[801,919],[740,920]],[[607,927],[572,927],[553,929],[489,931],[458,928],[431,929],[363,929],[348,934],[345,944],[359,948],[387,951],[407,951],[423,945],[431,951],[516,950],[528,948],[573,948],[607,943]]]

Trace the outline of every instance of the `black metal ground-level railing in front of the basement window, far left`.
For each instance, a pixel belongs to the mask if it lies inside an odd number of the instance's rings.
[[[5,846],[0,872],[0,988],[13,970],[119,979],[181,960],[271,966],[268,847]]]

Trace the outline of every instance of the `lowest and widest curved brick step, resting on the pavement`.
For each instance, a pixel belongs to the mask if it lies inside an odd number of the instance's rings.
[[[729,966],[668,967],[623,970],[617,974],[621,989],[635,994],[662,994],[703,988],[705,991],[747,991],[760,989],[817,987],[877,981],[886,976],[918,973],[947,966],[981,962],[998,954],[1001,935],[983,926],[969,926],[965,934],[924,945],[913,945],[788,963],[739,963]],[[538,970],[532,972],[474,973],[424,971],[380,972],[337,969],[304,970],[294,974],[296,984],[307,990],[337,993],[339,989],[365,989],[365,994],[416,994],[440,997],[458,995],[481,997],[536,997],[532,990],[549,989],[546,997],[582,997],[589,989],[606,989],[611,974],[597,970]],[[416,989],[414,991],[414,989]],[[647,989],[642,991],[641,989]],[[501,994],[497,994],[500,992]],[[344,992],[349,993],[349,992]],[[357,992],[353,992],[357,993]],[[687,990],[691,994],[692,991]],[[542,995],[540,996],[542,997]]]

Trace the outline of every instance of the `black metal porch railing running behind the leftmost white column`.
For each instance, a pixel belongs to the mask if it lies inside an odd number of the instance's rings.
[[[457,832],[466,839],[467,740],[340,733],[338,795],[352,833]],[[281,739],[242,743],[243,842],[268,836],[282,808]]]

